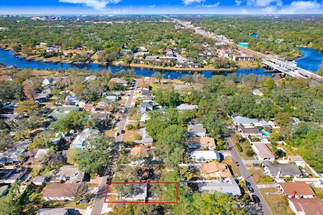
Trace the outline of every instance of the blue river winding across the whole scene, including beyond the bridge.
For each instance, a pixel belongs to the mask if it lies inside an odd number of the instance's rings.
[[[313,71],[317,71],[318,68],[322,64],[323,60],[323,53],[319,52],[312,48],[300,48],[302,52],[305,53],[305,55],[296,61],[298,62],[298,66],[304,69],[310,69]],[[12,55],[12,51],[5,51],[3,49],[0,49],[0,62],[5,63],[7,66],[9,65],[16,65],[18,68],[38,68],[38,69],[58,69],[58,68],[78,68],[78,69],[86,69],[86,70],[93,70],[93,71],[99,71],[102,69],[109,69],[112,71],[112,73],[116,73],[116,71],[120,71],[122,69],[128,69],[129,67],[116,67],[114,65],[109,66],[101,66],[96,63],[90,62],[89,64],[69,64],[69,63],[51,63],[51,62],[43,62],[43,61],[37,61],[37,60],[26,60],[26,59],[20,59]],[[160,71],[159,69],[149,69],[149,68],[133,68],[137,75],[139,76],[151,76],[156,71]],[[168,78],[170,76],[172,79],[177,79],[178,77],[181,77],[185,74],[192,73],[179,73],[178,71],[164,71],[165,77]],[[238,74],[256,74],[256,75],[267,75],[271,76],[272,73],[264,73],[263,68],[247,68],[247,69],[238,69]],[[218,71],[202,71],[202,74],[206,78],[210,78],[212,75],[217,74],[229,74],[229,73],[221,73]]]

